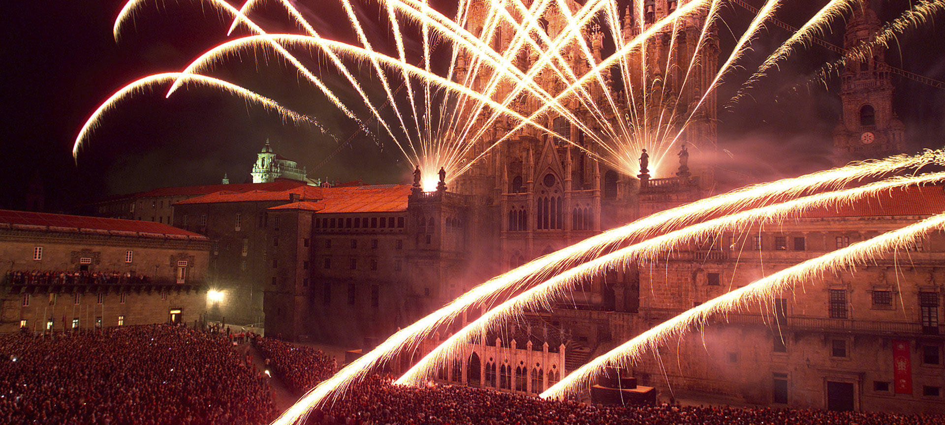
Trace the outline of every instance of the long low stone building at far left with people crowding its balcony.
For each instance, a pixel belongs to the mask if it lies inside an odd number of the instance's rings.
[[[209,249],[160,223],[0,211],[0,332],[192,323]]]

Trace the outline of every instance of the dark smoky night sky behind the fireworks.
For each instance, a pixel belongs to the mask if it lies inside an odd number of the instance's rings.
[[[337,147],[334,139],[316,128],[283,125],[278,117],[248,108],[230,95],[194,89],[165,99],[166,88],[162,86],[154,93],[135,96],[106,115],[78,161],[73,161],[71,149],[78,129],[105,98],[138,77],[179,71],[209,47],[227,40],[230,22],[186,1],[166,2],[160,8],[150,2],[136,19],[135,30],[116,43],[112,24],[124,1],[8,3],[0,17],[6,41],[0,119],[3,158],[8,165],[0,180],[0,208],[23,208],[26,186],[36,176],[43,181],[46,209],[63,211],[103,195],[215,183],[224,173],[234,182],[243,181],[249,177],[255,152],[266,139],[277,151],[310,171]],[[331,6],[336,2],[297,3],[326,37],[350,40],[351,31],[338,25],[343,15],[340,8]],[[802,17],[816,9],[811,4],[820,2],[795,3],[808,5],[785,8],[779,16],[799,26]],[[889,0],[877,2],[875,7],[882,19],[891,19],[909,3]],[[362,11],[376,17],[372,10],[376,9]],[[274,8],[254,16],[271,32],[280,27],[293,29],[286,26],[284,14]],[[744,30],[747,13],[729,10],[726,16],[736,33]],[[842,22],[833,26],[834,42],[839,42],[837,34],[842,26]],[[368,29],[370,37],[387,40],[382,26]],[[945,59],[940,53],[945,30],[940,29],[945,28],[928,26],[909,33],[900,40],[902,56],[896,50],[887,58],[904,69],[945,79]],[[722,36],[723,49],[730,48],[730,35],[723,31]],[[757,66],[763,54],[787,36],[778,29],[765,33],[753,44],[756,53],[747,58],[747,68]],[[719,142],[732,155],[725,160],[726,166],[737,173],[767,175],[796,174],[819,166],[818,158],[829,151],[830,131],[839,111],[836,84],[830,81],[827,89],[811,84],[808,90],[804,83],[820,64],[832,59],[835,55],[821,48],[804,49],[751,92],[754,100],[720,110]],[[356,128],[278,63],[257,66],[251,58],[233,60],[213,75],[239,82],[317,117],[338,139],[347,139]],[[720,103],[746,76],[730,76],[731,83],[720,92]],[[945,134],[945,91],[898,77],[895,81],[897,110],[908,127],[907,137],[913,148],[941,144]],[[366,85],[369,90],[376,89],[370,82]],[[796,86],[802,90],[790,90]],[[343,98],[351,98],[350,88],[340,82],[333,87]],[[384,142],[383,138],[359,136],[317,171],[310,172],[310,177],[401,181],[408,174],[404,159]]]

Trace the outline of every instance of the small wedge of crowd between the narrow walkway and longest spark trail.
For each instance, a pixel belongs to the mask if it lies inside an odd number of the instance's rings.
[[[297,394],[312,389],[335,373],[335,357],[320,349],[296,346],[274,338],[255,336],[253,346],[266,359],[272,373]]]

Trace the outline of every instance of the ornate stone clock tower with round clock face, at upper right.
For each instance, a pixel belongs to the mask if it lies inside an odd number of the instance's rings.
[[[868,1],[854,6],[843,46],[848,51],[873,39],[879,18]],[[862,58],[847,60],[841,77],[843,111],[833,129],[833,148],[844,160],[885,158],[905,150],[904,126],[892,110],[892,77],[885,47],[874,46]]]

